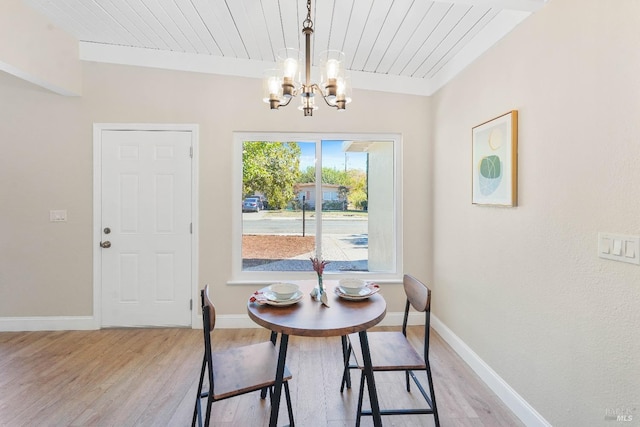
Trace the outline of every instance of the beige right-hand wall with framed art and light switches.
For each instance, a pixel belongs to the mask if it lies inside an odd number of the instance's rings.
[[[639,17],[552,0],[433,97],[435,314],[554,426],[640,422],[640,267],[597,257],[640,234]],[[471,128],[511,109],[519,206],[472,206]]]

